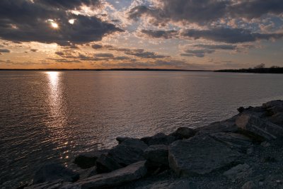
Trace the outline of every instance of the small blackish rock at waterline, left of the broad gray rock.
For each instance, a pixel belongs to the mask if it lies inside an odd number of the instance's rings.
[[[87,152],[76,156],[74,164],[80,168],[91,168],[96,165],[96,160],[101,156],[101,154],[107,154],[109,149],[102,149],[92,152]]]

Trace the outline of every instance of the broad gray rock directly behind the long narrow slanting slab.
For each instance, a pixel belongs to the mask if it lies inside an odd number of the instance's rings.
[[[128,166],[137,161],[144,160],[144,150],[147,145],[139,139],[126,139],[121,144],[110,149],[110,156],[120,166]]]

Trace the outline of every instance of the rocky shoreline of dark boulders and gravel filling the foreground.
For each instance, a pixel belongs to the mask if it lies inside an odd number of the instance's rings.
[[[238,112],[197,129],[117,137],[112,149],[77,156],[78,173],[47,164],[20,188],[283,188],[283,101]]]

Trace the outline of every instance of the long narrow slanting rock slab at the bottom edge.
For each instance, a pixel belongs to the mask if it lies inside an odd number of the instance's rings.
[[[135,181],[146,175],[145,161],[139,161],[125,168],[117,169],[111,173],[103,173],[77,182],[76,186],[81,189],[110,188]]]

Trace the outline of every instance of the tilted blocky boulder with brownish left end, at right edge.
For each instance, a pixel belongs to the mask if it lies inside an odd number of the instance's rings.
[[[236,125],[248,134],[259,136],[264,139],[277,139],[283,137],[283,128],[275,125],[272,122],[258,118],[249,113],[243,113],[236,118]]]

